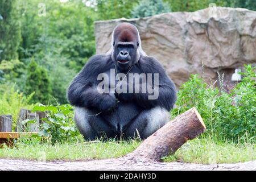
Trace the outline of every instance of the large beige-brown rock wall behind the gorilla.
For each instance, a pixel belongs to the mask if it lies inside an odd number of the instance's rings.
[[[143,50],[163,65],[176,86],[191,73],[209,82],[217,78],[217,71],[256,63],[256,11],[209,7],[192,13],[98,21],[94,30],[97,53],[109,50],[112,31],[121,22],[137,26]]]

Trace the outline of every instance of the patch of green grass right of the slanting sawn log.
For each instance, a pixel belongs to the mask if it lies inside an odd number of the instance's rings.
[[[163,158],[164,162],[199,164],[238,163],[256,159],[255,143],[215,142],[210,138],[193,139]]]

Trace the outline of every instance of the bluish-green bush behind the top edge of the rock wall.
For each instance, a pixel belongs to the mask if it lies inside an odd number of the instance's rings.
[[[143,18],[170,12],[169,5],[162,0],[143,0],[132,11],[133,18]]]

